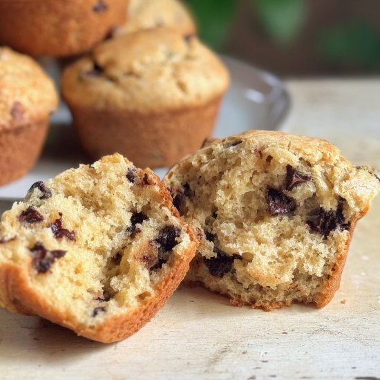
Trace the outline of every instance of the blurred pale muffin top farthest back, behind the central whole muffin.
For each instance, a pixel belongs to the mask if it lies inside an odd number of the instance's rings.
[[[113,36],[158,26],[175,29],[182,35],[196,32],[196,25],[189,11],[178,0],[131,0],[128,21],[116,28]]]

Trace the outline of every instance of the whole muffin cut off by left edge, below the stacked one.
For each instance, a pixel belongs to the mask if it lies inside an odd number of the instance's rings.
[[[53,82],[38,64],[0,47],[0,185],[35,164],[57,104]]]

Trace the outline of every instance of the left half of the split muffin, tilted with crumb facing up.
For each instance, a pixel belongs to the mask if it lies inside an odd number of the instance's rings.
[[[36,182],[0,223],[0,305],[101,342],[144,325],[197,238],[149,169],[121,155]]]

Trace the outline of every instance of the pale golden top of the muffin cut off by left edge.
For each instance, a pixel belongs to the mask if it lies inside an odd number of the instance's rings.
[[[0,131],[43,120],[57,104],[53,82],[37,62],[0,47]]]

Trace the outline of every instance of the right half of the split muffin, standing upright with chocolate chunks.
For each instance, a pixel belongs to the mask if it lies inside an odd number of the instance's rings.
[[[247,131],[212,142],[164,178],[203,232],[187,281],[239,306],[323,307],[379,180],[325,140]]]

